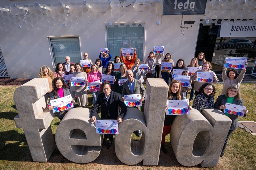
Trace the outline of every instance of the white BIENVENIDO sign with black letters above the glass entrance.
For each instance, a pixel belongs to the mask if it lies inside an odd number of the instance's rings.
[[[229,35],[230,37],[254,37],[256,25],[221,25],[220,37],[229,37]]]

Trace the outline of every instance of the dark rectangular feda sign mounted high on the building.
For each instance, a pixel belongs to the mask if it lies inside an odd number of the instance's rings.
[[[164,0],[164,15],[204,14],[206,0]]]

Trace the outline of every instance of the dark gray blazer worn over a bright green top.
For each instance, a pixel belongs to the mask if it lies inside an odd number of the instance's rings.
[[[219,95],[219,97],[215,101],[214,108],[219,109],[220,105],[225,106],[226,102],[227,102],[227,97],[225,96],[225,94]],[[233,101],[233,104],[244,106],[243,99],[238,100],[235,98]],[[223,111],[223,109],[221,111]],[[238,127],[238,116],[234,114],[229,114],[229,118],[232,120],[232,124],[229,130],[235,130]]]

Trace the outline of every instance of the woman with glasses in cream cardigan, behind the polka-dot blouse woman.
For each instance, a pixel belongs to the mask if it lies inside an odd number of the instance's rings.
[[[216,76],[216,74],[211,70],[212,69],[212,65],[209,61],[206,61],[203,63],[203,66],[202,66],[202,70],[198,70],[194,73],[194,75],[192,76],[192,82],[195,82],[195,85],[194,85],[194,89],[195,89],[195,94],[196,96],[198,94],[200,94],[199,92],[199,88],[205,83],[203,81],[197,81],[197,73],[199,72],[203,72],[203,73],[213,73],[213,83],[216,84],[218,83],[219,79],[218,77]]]

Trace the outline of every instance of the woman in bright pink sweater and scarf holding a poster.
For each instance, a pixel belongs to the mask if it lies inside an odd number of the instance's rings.
[[[87,76],[88,83],[101,80],[101,73],[99,72],[99,68],[96,64],[91,65],[91,72]],[[102,82],[100,82],[102,84]],[[100,94],[101,87],[90,89],[91,95],[93,98],[93,105],[96,103],[98,95]]]

